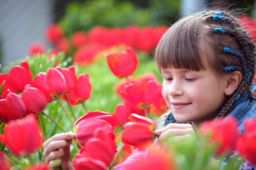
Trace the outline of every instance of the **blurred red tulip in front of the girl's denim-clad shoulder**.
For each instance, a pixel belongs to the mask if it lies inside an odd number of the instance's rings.
[[[236,150],[238,129],[234,117],[229,116],[222,121],[204,121],[200,124],[199,132],[204,137],[210,135],[210,144],[217,144],[217,156]]]

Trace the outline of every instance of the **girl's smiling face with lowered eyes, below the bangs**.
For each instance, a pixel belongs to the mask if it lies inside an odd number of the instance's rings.
[[[209,68],[203,71],[168,68],[161,71],[163,97],[174,118],[200,124],[216,117],[226,99],[224,78]]]

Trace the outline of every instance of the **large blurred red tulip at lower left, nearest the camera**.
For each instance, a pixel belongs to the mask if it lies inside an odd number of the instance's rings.
[[[40,149],[43,144],[41,130],[34,114],[11,120],[4,126],[0,141],[15,156],[29,155]]]

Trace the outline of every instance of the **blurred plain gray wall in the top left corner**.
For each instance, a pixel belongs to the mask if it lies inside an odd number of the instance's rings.
[[[44,31],[51,23],[51,0],[0,0],[2,68],[24,59],[32,42],[41,42],[49,48]]]

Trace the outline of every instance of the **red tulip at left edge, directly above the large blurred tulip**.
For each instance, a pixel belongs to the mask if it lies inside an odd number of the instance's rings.
[[[0,120],[7,123],[27,115],[22,99],[16,93],[8,93],[6,99],[0,99]]]

